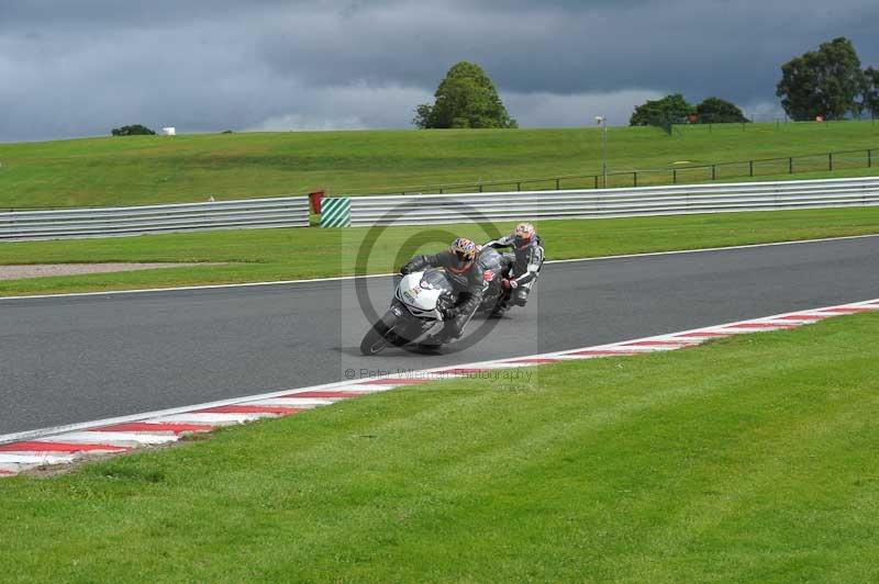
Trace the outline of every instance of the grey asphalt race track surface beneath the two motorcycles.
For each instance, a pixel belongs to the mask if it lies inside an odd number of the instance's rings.
[[[876,297],[879,239],[547,265],[467,350],[359,356],[352,281],[0,301],[0,435]],[[376,310],[390,278],[368,279]]]

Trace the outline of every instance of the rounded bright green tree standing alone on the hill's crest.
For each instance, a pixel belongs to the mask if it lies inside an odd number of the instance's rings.
[[[479,65],[453,66],[434,93],[433,105],[422,103],[412,121],[420,128],[518,127],[507,113],[494,83]]]

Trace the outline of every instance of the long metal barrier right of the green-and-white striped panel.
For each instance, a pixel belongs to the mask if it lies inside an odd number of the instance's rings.
[[[687,184],[588,191],[376,195],[335,199],[325,226],[598,218],[879,205],[879,178]],[[347,201],[348,203],[344,203]],[[344,206],[349,204],[349,206]],[[332,224],[330,224],[332,223]]]

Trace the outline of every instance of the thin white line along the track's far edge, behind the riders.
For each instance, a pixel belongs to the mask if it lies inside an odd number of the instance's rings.
[[[846,239],[866,239],[870,237],[879,237],[879,234],[865,234],[865,235],[844,235],[841,237],[822,237],[819,239],[797,239],[793,242],[770,242],[767,244],[745,244],[738,246],[726,247],[703,247],[699,249],[671,249],[668,251],[644,251],[641,254],[622,254],[619,256],[599,256],[594,258],[570,258],[570,259],[550,259],[544,263],[574,263],[579,261],[603,261],[614,259],[627,258],[646,258],[653,256],[674,256],[680,254],[702,254],[706,251],[728,251],[735,249],[750,249],[757,247],[771,247],[771,246],[789,246],[802,244],[820,244],[826,242],[844,242]],[[185,285],[177,288],[144,288],[137,290],[107,290],[103,292],[68,292],[63,294],[32,294],[20,296],[0,296],[0,301],[13,300],[37,300],[37,299],[63,299],[63,297],[77,297],[77,296],[115,296],[121,294],[152,294],[159,292],[186,292],[193,290],[222,290],[226,288],[257,288],[270,285],[291,285],[291,284],[309,284],[316,282],[337,282],[345,280],[356,280],[359,278],[388,278],[396,276],[396,273],[370,273],[367,276],[337,276],[333,278],[310,278],[304,280],[275,280],[268,282],[242,282],[234,284],[204,284],[204,285]]]

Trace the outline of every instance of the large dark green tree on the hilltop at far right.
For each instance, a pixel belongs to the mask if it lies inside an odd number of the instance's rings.
[[[822,43],[781,66],[776,94],[793,120],[842,120],[859,114],[857,97],[864,87],[864,71],[852,41],[845,37]]]

